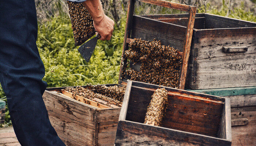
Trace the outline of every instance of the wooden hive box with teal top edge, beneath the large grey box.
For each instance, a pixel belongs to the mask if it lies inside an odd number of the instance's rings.
[[[189,90],[230,99],[232,146],[255,146],[256,87]]]

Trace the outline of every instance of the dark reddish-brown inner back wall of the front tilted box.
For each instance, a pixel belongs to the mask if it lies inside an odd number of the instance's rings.
[[[126,120],[143,123],[153,93],[154,91],[132,87]],[[182,95],[168,95],[168,101],[163,127],[217,137],[223,103]]]

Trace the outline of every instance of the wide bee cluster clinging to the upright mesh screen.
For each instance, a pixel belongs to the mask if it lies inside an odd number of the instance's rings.
[[[182,59],[173,47],[164,46],[155,39],[150,42],[135,38],[129,43],[123,60],[127,64],[121,64],[121,78],[178,88]],[[141,63],[140,70],[128,68],[129,63]]]

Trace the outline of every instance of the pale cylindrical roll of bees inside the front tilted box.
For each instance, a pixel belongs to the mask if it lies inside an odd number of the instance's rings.
[[[165,88],[158,88],[151,96],[150,104],[147,107],[144,124],[161,126],[166,115],[168,96]]]

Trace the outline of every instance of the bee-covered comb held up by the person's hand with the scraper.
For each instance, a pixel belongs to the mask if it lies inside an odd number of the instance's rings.
[[[68,12],[71,19],[72,30],[74,34],[75,44],[82,45],[86,37],[90,38],[94,35],[95,29],[93,26],[93,19],[91,18],[87,9],[82,3],[74,3],[67,1]]]

